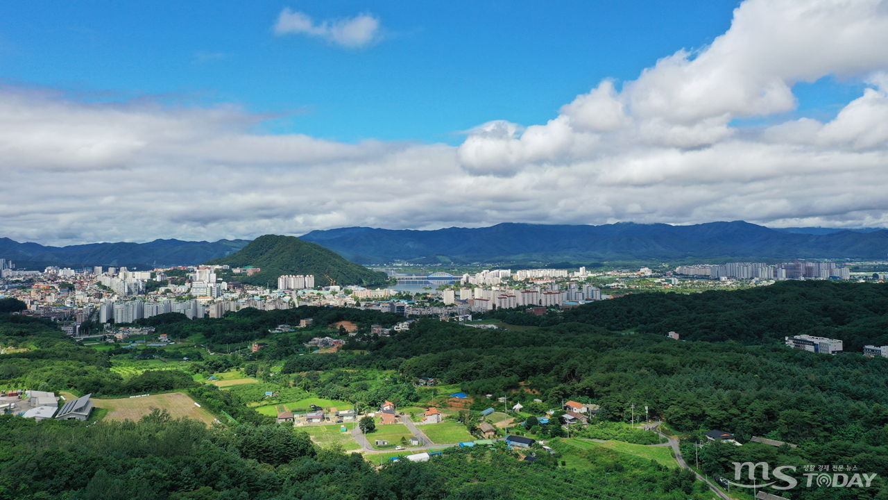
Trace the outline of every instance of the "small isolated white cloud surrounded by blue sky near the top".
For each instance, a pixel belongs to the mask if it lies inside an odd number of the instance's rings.
[[[376,41],[379,32],[379,20],[369,14],[315,23],[304,12],[285,8],[274,24],[274,33],[277,35],[297,33],[318,36],[349,48],[363,47]]]

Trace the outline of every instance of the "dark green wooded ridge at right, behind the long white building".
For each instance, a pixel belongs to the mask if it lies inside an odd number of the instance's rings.
[[[583,323],[611,331],[677,332],[687,341],[747,345],[782,343],[785,336],[808,334],[840,339],[844,351],[860,353],[868,343],[888,344],[888,284],[781,281],[701,294],[629,294],[560,316],[508,310],[488,316],[513,325]]]

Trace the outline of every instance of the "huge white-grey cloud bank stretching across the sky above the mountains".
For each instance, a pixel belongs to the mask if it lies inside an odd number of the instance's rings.
[[[334,22],[296,14],[290,31],[329,29],[318,36],[333,39]],[[458,147],[260,134],[267,117],[231,106],[95,104],[0,88],[2,236],[72,243],[737,219],[888,227],[886,22],[884,3],[868,0],[747,0],[709,46],[567,97],[543,125],[479,125]],[[826,122],[732,125],[793,109],[792,85],[826,75],[867,88]]]

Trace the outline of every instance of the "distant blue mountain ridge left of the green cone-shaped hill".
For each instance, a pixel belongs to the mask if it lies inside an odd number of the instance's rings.
[[[0,258],[12,262],[42,262],[80,268],[82,266],[188,266],[234,254],[250,243],[247,239],[181,241],[155,239],[149,243],[91,243],[72,246],[43,246],[0,238]]]

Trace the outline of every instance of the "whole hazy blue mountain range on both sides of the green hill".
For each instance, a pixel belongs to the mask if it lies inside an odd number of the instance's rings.
[[[888,230],[787,228],[748,222],[692,226],[620,222],[601,226],[503,223],[488,228],[315,230],[300,237],[363,264],[885,259]],[[196,265],[235,254],[250,240],[157,239],[150,243],[42,246],[0,238],[0,258],[39,265]]]

